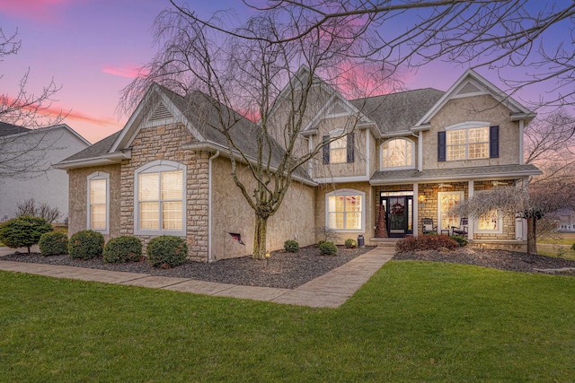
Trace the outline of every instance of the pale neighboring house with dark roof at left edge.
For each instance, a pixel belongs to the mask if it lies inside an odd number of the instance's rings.
[[[0,222],[13,218],[16,206],[31,198],[37,204],[57,207],[62,213],[57,222],[65,222],[68,176],[51,165],[88,146],[90,143],[66,124],[28,129],[0,122],[0,147],[4,148],[0,161],[8,161],[9,169],[10,163],[16,161],[18,164],[34,163],[28,172],[16,174],[16,178],[5,178],[0,171]],[[10,160],[6,160],[8,158]]]

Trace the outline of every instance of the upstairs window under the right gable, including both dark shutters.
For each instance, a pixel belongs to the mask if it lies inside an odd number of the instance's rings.
[[[438,161],[499,158],[500,127],[488,124],[467,122],[438,132]]]

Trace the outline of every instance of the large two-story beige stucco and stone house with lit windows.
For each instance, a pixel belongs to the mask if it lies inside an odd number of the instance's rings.
[[[451,205],[491,187],[523,187],[541,174],[523,161],[523,131],[535,114],[473,70],[447,91],[346,100],[318,79],[313,94],[296,152],[329,144],[296,173],[270,218],[268,248],[286,239],[312,244],[314,228],[323,226],[341,242],[358,235],[375,241],[380,206],[385,236],[421,235],[423,218],[439,233],[452,232],[464,217]],[[198,92],[182,97],[154,85],[120,132],[58,164],[75,190],[70,233],[93,229],[145,241],[179,235],[199,261],[251,254],[254,214],[229,176],[225,137],[202,122],[211,113],[202,100]],[[281,105],[270,116],[278,126],[286,118]],[[254,129],[245,119],[234,126],[247,152]],[[464,223],[473,244],[526,248],[524,220],[493,211]],[[240,233],[247,246],[229,233]]]

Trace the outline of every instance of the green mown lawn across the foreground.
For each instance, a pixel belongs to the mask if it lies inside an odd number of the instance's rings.
[[[572,381],[575,278],[391,261],[340,309],[0,273],[0,381]]]

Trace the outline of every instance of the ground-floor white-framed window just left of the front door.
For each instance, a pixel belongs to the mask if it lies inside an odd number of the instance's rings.
[[[340,189],[325,195],[325,222],[335,231],[364,231],[366,194]]]

